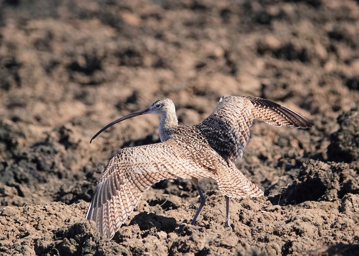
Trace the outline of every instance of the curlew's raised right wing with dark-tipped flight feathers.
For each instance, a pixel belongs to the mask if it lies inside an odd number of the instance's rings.
[[[298,113],[270,100],[250,96],[221,98],[217,108],[195,126],[205,134],[211,147],[232,160],[243,156],[253,119],[275,126],[309,128],[314,124]]]

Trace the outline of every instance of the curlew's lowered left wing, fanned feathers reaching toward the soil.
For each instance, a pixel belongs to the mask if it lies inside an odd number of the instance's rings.
[[[208,177],[172,139],[124,148],[106,166],[86,215],[102,236],[112,238],[132,213],[141,195],[160,180]]]

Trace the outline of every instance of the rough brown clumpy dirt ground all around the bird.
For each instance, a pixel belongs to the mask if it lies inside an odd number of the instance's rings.
[[[359,2],[0,1],[0,255],[359,255]],[[180,124],[220,96],[261,96],[315,123],[255,122],[238,168],[265,196],[201,180],[150,188],[113,240],[85,220],[121,148],[159,117],[104,125],[167,97]]]

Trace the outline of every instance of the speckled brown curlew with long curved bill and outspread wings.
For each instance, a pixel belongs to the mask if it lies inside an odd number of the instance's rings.
[[[250,138],[253,119],[270,125],[310,128],[314,124],[302,115],[270,100],[253,96],[222,96],[217,107],[204,121],[178,125],[172,100],[162,98],[149,108],[128,114],[97,132],[143,114],[160,115],[159,143],[120,150],[105,167],[90,202],[86,219],[94,221],[103,237],[111,239],[133,212],[144,191],[166,179],[191,179],[200,205],[191,221],[205,205],[199,179],[215,180],[225,196],[225,228],[230,227],[229,198],[254,198],[263,191],[248,180],[235,163],[242,158]]]

